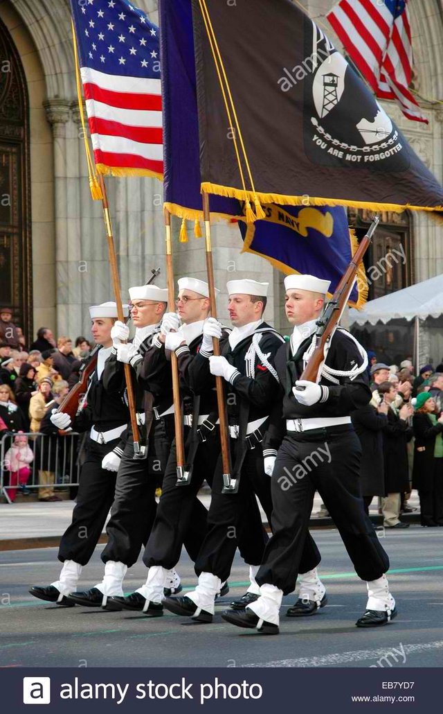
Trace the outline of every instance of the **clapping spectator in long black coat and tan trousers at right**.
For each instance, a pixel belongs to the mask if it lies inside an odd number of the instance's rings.
[[[385,498],[382,500],[383,525],[385,528],[408,528],[402,523],[399,513],[402,493],[409,491],[409,467],[407,443],[412,439],[409,416],[412,406],[395,406],[396,391],[390,382],[382,382],[377,389],[387,403],[387,422],[383,427],[383,452],[385,463]]]

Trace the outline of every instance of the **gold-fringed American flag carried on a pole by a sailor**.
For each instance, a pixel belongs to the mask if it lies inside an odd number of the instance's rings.
[[[128,0],[71,0],[98,171],[163,178],[159,31]]]

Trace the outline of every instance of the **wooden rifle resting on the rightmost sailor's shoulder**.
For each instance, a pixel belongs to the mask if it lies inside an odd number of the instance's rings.
[[[327,340],[332,335],[337,323],[340,321],[342,312],[345,309],[349,296],[354,287],[357,271],[362,262],[363,256],[369,248],[372,236],[380,222],[380,218],[375,216],[371,223],[369,231],[360,242],[360,245],[352,256],[352,261],[347,267],[347,271],[338,283],[332,299],[325,305],[325,309],[320,319],[317,320],[317,332],[315,333],[315,349],[310,356],[310,359],[305,366],[305,369],[300,376],[300,379],[305,379],[309,382],[317,382],[320,376],[320,369],[325,361],[325,346]],[[297,387],[297,391],[303,391],[305,387]]]

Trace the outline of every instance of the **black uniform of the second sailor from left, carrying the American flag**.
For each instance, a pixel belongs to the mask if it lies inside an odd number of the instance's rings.
[[[131,359],[135,376],[138,421],[141,422],[141,443],[146,443],[148,431],[148,457],[133,458],[133,436],[128,428],[128,441],[118,469],[116,494],[111,509],[111,518],[106,526],[108,543],[103,550],[103,563],[115,560],[131,567],[138,558],[142,545],[146,545],[156,518],[156,488],[162,486],[163,474],[170,456],[175,436],[172,375],[170,365],[164,369],[158,364],[158,348],[153,344],[160,326],[141,346]],[[123,378],[123,363],[116,353],[106,364],[105,380],[112,388]],[[201,504],[200,504],[201,505]],[[185,538],[185,547],[195,558],[205,532],[205,508],[195,506],[191,528]]]

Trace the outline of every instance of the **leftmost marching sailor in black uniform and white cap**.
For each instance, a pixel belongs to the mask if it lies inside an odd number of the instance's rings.
[[[101,345],[97,365],[88,383],[83,408],[73,422],[65,413],[53,413],[54,433],[88,431],[86,459],[81,466],[77,502],[71,525],[63,534],[58,549],[58,560],[63,563],[61,573],[51,585],[34,585],[29,592],[41,600],[49,600],[66,607],[74,605],[69,595],[75,593],[83,565],[93,554],[113,503],[118,464],[120,463],[123,432],[129,419],[123,390],[110,393],[103,385],[103,368],[111,354],[111,328],[116,322],[116,303],[103,303],[89,308],[91,333]],[[125,317],[128,306],[123,306]]]

